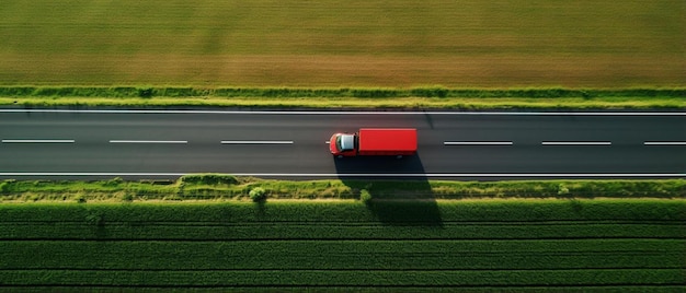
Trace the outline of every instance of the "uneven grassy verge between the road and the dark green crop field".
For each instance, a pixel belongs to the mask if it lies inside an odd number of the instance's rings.
[[[309,180],[289,181],[187,175],[178,180],[13,180],[0,181],[0,201],[133,201],[248,199],[263,189],[270,199],[359,199],[366,190],[373,199],[468,198],[685,198],[686,180]]]

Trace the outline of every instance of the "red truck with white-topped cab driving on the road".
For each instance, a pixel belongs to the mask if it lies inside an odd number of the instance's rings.
[[[416,153],[416,129],[363,128],[356,133],[334,133],[329,150],[335,156],[413,155]]]

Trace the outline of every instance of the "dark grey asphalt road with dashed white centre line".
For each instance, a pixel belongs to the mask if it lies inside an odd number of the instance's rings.
[[[334,159],[333,132],[412,127],[413,157]],[[686,177],[685,113],[0,110],[0,178]]]

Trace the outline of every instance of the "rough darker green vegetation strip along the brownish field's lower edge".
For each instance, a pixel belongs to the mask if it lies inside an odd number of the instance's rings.
[[[685,97],[683,87],[632,89],[449,89],[390,87],[161,87],[161,86],[0,86],[0,96],[42,97]]]

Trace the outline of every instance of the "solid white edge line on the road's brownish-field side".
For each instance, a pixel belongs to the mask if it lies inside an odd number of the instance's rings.
[[[686,116],[686,112],[335,112],[335,110],[127,110],[0,109],[0,113],[258,114],[258,115],[503,115],[503,116]]]

